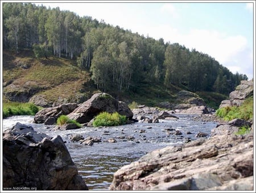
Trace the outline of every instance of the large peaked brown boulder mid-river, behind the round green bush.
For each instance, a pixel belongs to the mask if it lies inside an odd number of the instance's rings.
[[[80,104],[68,117],[79,123],[88,123],[94,116],[104,111],[109,113],[118,112],[120,115],[125,115],[128,119],[133,118],[133,112],[131,112],[127,104],[119,103],[118,100],[107,93],[94,94],[89,100]]]

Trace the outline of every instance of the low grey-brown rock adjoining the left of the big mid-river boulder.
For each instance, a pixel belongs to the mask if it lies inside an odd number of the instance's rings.
[[[44,108],[36,113],[34,123],[55,124],[60,115],[68,115],[76,108],[76,103],[67,103],[57,107]]]

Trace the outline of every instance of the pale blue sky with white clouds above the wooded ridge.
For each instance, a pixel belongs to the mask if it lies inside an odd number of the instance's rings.
[[[254,1],[55,1],[44,6],[207,53],[233,73],[253,78]],[[96,3],[97,2],[97,3]],[[36,5],[41,5],[37,3]]]

